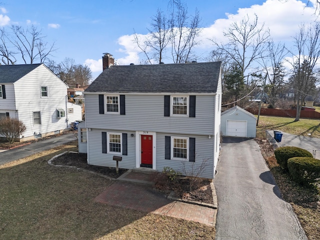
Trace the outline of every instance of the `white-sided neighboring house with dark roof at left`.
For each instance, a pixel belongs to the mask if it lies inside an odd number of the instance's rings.
[[[81,120],[81,106],[67,102],[67,85],[44,64],[0,65],[0,118],[22,121],[20,141],[39,138]]]

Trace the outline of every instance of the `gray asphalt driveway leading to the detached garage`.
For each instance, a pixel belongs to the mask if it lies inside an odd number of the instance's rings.
[[[215,239],[307,239],[254,139],[223,137],[221,145]]]

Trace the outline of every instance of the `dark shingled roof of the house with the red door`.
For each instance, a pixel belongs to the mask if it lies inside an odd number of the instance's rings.
[[[110,66],[84,92],[216,92],[221,62]]]

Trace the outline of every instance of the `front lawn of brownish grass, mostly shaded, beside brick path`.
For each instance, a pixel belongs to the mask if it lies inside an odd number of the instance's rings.
[[[0,239],[214,239],[197,222],[95,202],[111,181],[47,160],[76,142],[0,165]]]

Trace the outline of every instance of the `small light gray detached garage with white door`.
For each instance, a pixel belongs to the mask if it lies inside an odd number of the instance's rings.
[[[255,137],[256,117],[239,106],[221,113],[222,136]]]

